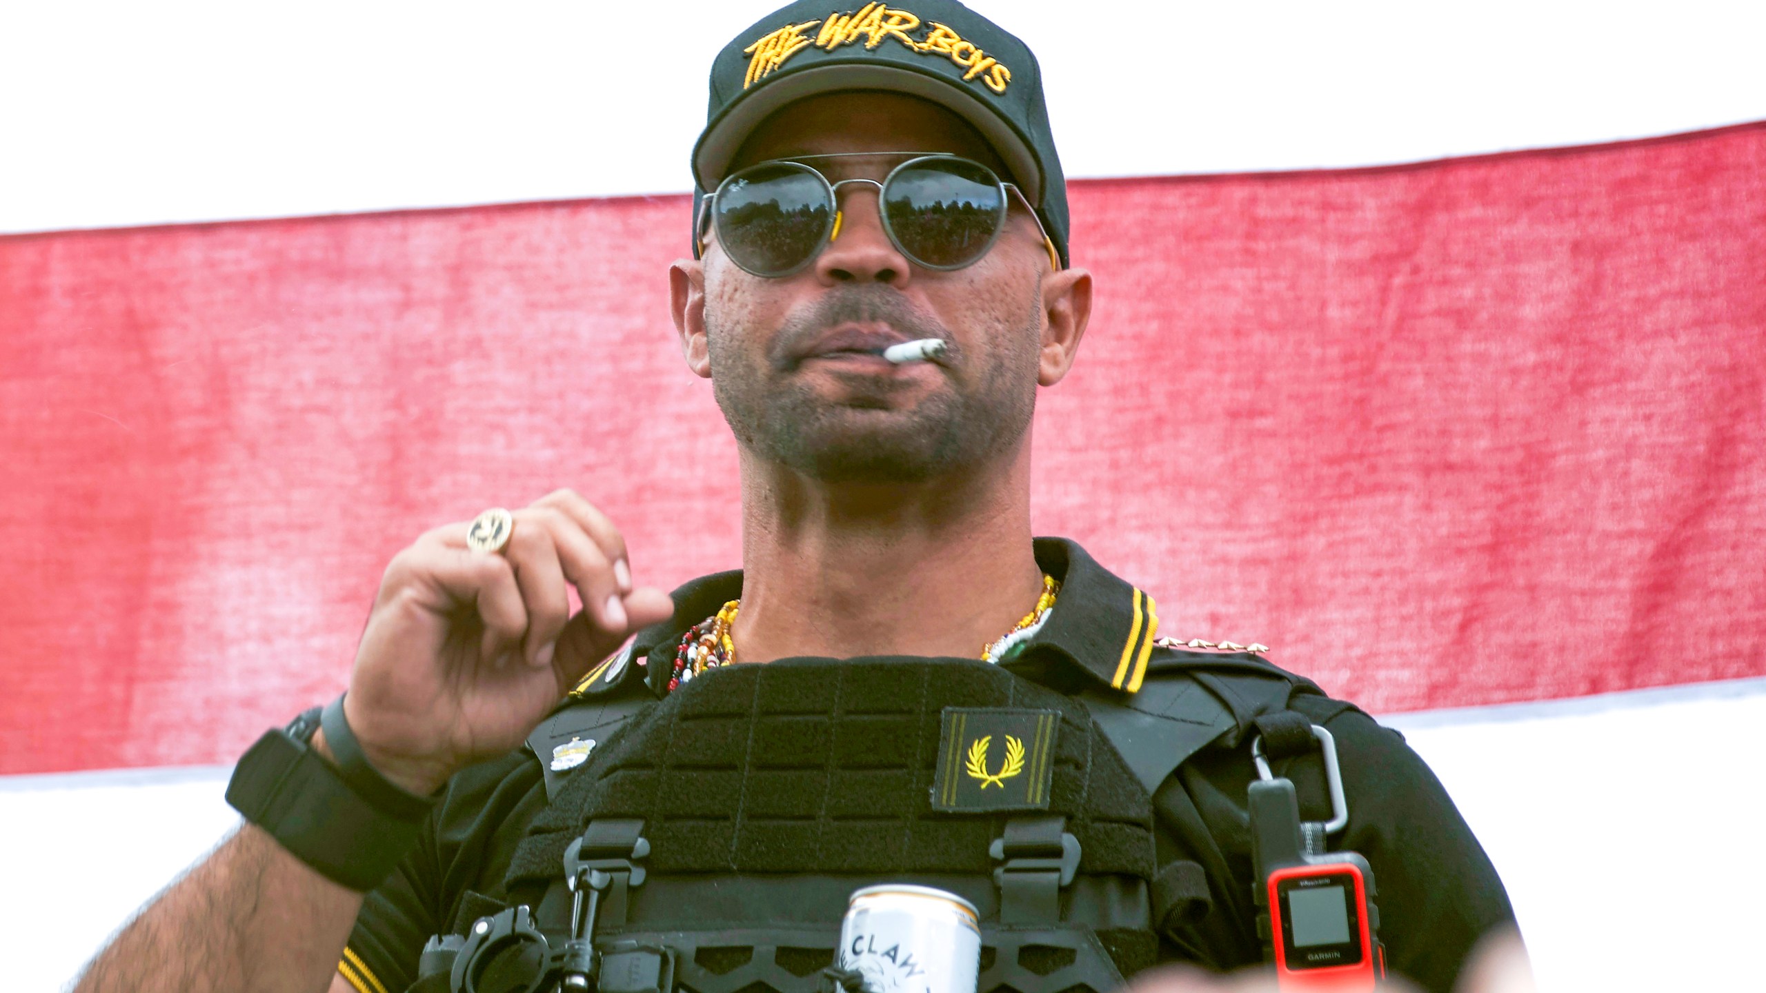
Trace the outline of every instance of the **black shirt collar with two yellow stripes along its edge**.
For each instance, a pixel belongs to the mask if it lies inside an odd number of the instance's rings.
[[[1038,537],[1033,548],[1042,571],[1060,580],[1061,595],[1042,629],[1003,664],[1072,689],[1102,684],[1139,691],[1158,636],[1153,597],[1098,565],[1074,541]],[[659,696],[682,634],[742,595],[742,571],[701,576],[673,595],[675,617],[639,631],[632,641],[632,657],[648,657],[645,678]]]

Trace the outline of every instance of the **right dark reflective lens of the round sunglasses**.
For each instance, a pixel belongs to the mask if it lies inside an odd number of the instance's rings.
[[[1005,223],[1005,189],[977,163],[929,159],[895,170],[883,210],[915,262],[959,269],[980,258]]]

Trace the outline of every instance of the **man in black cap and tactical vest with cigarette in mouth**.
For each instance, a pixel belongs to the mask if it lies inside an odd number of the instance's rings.
[[[1390,965],[1452,986],[1512,913],[1399,737],[1261,647],[1160,640],[1153,597],[1031,539],[1035,392],[1091,311],[1031,53],[950,0],[795,4],[717,58],[694,175],[671,306],[740,451],[743,571],[638,585],[572,491],[426,534],[348,694],[240,762],[251,823],[79,989],[526,988],[540,945],[486,944],[521,926],[668,944],[699,993],[800,988],[848,892],[911,880],[1014,951],[984,993],[1252,965],[1252,740],[1287,735],[1312,816],[1309,724]]]

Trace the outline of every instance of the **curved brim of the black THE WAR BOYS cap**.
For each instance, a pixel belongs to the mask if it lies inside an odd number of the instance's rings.
[[[722,182],[729,161],[749,133],[775,110],[839,90],[892,90],[940,104],[970,122],[1012,171],[1012,178],[1031,203],[1042,203],[1042,166],[1017,131],[977,95],[954,85],[945,76],[917,72],[897,65],[816,65],[766,80],[754,92],[736,99],[717,120],[706,125],[699,145],[692,150],[692,173],[699,189],[710,191]],[[927,148],[938,150],[938,148]]]

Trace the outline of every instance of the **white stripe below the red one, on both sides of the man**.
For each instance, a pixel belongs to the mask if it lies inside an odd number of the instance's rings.
[[[1543,989],[1745,986],[1766,678],[1399,714],[1508,885]],[[226,767],[0,777],[9,989],[58,989],[223,838]],[[1351,815],[1355,797],[1349,797]],[[102,852],[104,855],[95,855]]]

